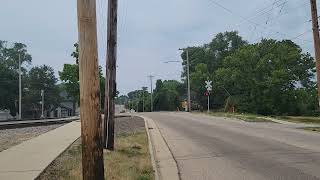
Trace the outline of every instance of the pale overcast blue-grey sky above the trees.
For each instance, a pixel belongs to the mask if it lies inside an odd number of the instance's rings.
[[[102,66],[106,10],[107,0],[97,0]],[[119,0],[118,13],[121,94],[149,86],[150,74],[180,80],[181,64],[163,62],[180,60],[179,48],[208,43],[219,32],[237,30],[250,43],[261,37],[293,39],[313,53],[309,0]],[[47,64],[58,72],[64,63],[74,63],[76,0],[1,0],[0,22],[0,40],[25,43],[32,65]]]

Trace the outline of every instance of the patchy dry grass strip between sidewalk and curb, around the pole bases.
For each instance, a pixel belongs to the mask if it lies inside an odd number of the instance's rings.
[[[145,131],[116,138],[115,151],[104,151],[105,178],[112,180],[153,180],[154,172]],[[73,143],[37,180],[82,179],[81,140]]]

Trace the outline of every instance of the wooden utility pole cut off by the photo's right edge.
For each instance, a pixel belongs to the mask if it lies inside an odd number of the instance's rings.
[[[318,85],[318,104],[320,107],[320,37],[319,37],[319,24],[316,0],[310,0],[311,15],[312,15],[312,30],[314,40],[314,50],[317,68],[317,85]]]

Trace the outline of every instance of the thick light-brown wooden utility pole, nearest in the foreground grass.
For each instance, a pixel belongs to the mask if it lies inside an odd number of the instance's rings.
[[[103,180],[96,1],[78,0],[80,119],[84,180]]]

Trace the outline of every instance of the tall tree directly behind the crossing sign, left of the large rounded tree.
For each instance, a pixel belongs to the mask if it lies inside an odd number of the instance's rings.
[[[206,106],[204,80],[213,78],[214,72],[222,67],[223,60],[247,44],[247,41],[243,40],[237,31],[231,31],[218,33],[208,44],[187,48],[189,52],[191,100],[193,105],[200,105],[200,108]],[[182,79],[184,83],[186,83],[186,50],[181,54],[181,58],[183,59]],[[199,67],[199,64],[202,64],[200,65],[202,67]],[[204,72],[201,72],[201,70],[204,70]],[[201,73],[204,73],[204,75]],[[211,103],[213,103],[214,100],[215,104],[222,106],[225,98],[221,97],[221,94],[224,96],[224,91],[215,89],[214,92],[216,94],[212,95]]]

